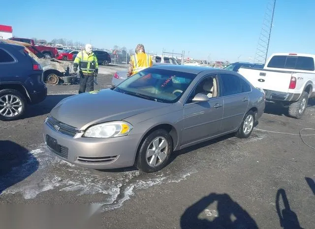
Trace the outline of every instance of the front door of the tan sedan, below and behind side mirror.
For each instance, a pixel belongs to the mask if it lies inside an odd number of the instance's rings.
[[[209,85],[209,80],[213,81],[213,87]],[[191,91],[184,105],[182,145],[196,143],[222,132],[223,97],[221,97],[220,84],[218,83],[216,74],[208,75],[203,77]],[[206,94],[210,97],[209,101],[192,102],[192,98],[197,93]]]

